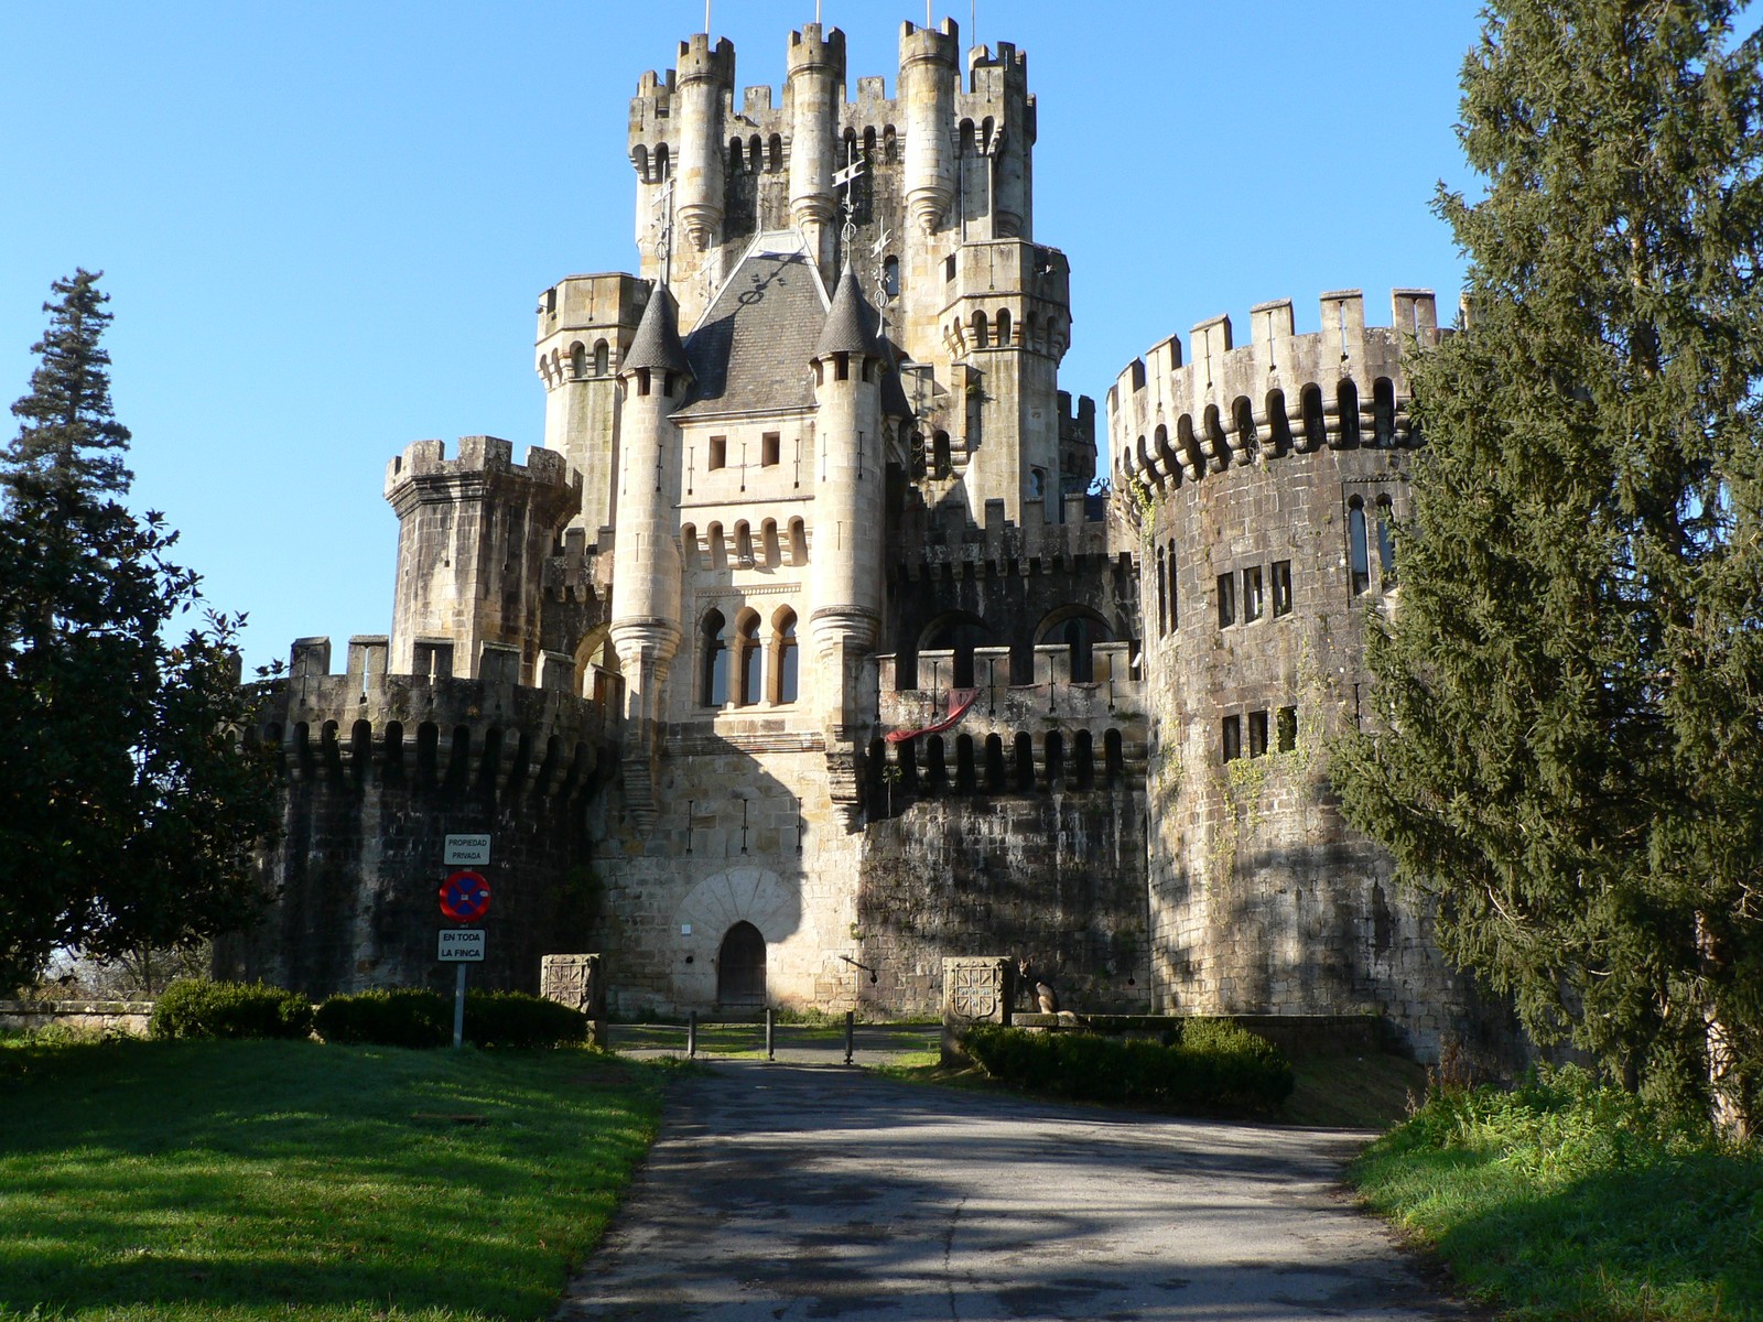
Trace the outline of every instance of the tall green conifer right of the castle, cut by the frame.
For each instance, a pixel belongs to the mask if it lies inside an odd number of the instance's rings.
[[[1763,1068],[1763,41],[1730,0],[1493,0],[1440,189],[1467,323],[1349,818],[1442,945],[1631,1086]]]

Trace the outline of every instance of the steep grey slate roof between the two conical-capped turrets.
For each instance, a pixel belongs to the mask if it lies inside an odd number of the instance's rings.
[[[815,404],[815,340],[825,294],[802,252],[753,250],[686,337],[698,388],[675,418]]]

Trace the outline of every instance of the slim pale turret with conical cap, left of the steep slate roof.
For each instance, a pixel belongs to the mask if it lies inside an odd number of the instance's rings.
[[[679,338],[673,294],[658,284],[619,368],[619,541],[612,583],[612,647],[626,693],[626,802],[640,825],[654,820],[656,723],[661,687],[681,640],[679,427],[691,365]]]

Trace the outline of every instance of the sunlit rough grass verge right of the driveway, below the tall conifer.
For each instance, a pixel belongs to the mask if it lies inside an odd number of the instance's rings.
[[[1516,1318],[1763,1318],[1763,1153],[1578,1070],[1437,1095],[1354,1167],[1366,1200]]]

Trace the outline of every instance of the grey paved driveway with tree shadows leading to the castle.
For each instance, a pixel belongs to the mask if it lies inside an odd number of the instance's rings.
[[[1474,1317],[1340,1192],[1366,1137],[723,1059],[557,1318]]]

